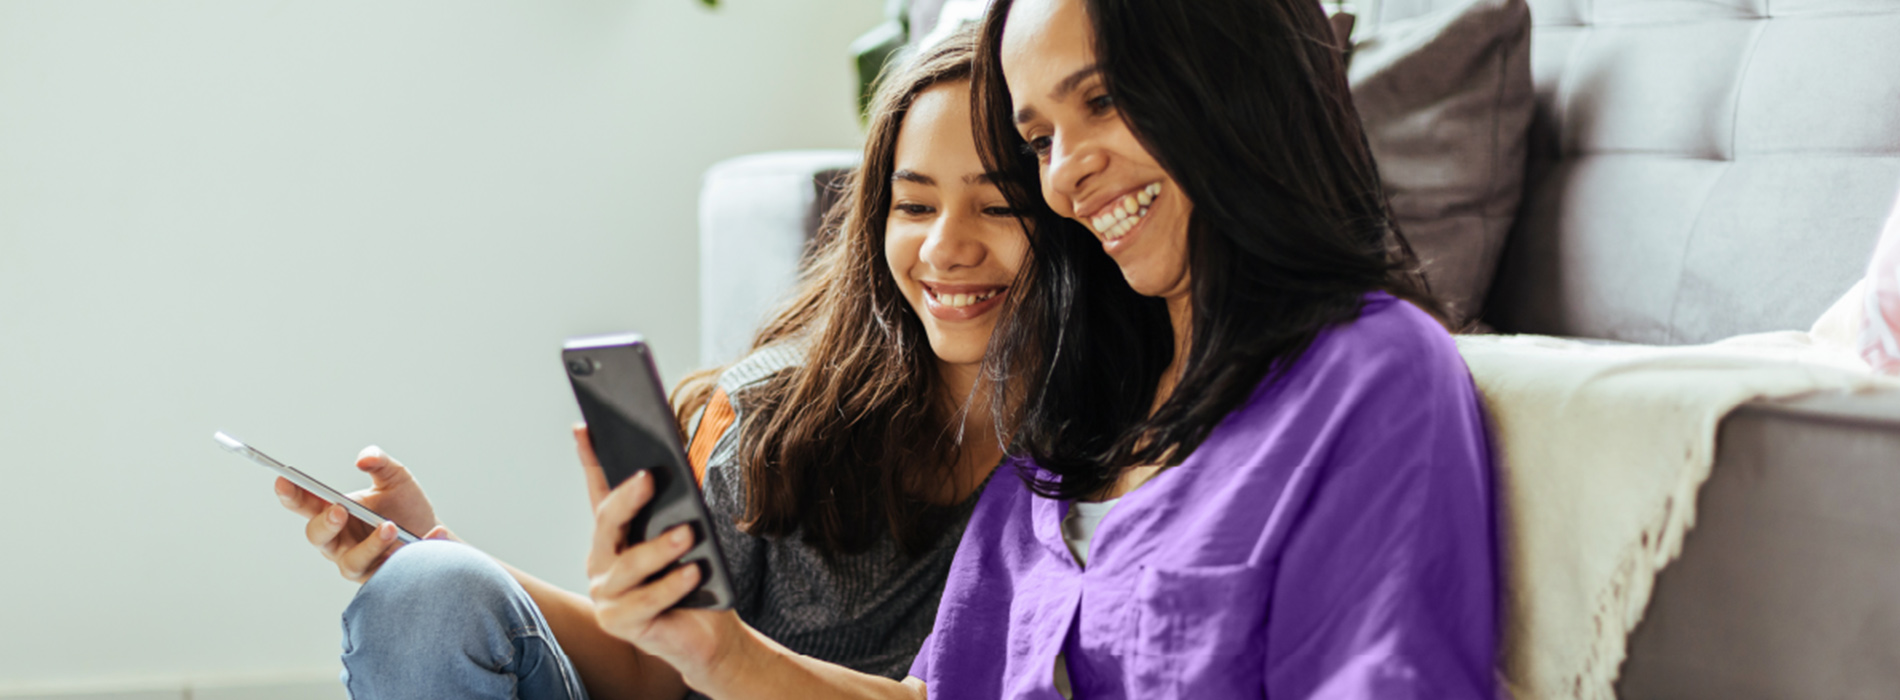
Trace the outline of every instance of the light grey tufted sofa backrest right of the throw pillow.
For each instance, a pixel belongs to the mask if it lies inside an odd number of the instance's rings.
[[[1368,29],[1446,6],[1385,0]],[[1805,329],[1900,188],[1900,0],[1530,0],[1503,331],[1704,342]]]

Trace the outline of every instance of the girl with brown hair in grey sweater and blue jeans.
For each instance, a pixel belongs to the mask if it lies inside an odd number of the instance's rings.
[[[370,447],[353,495],[416,533],[369,529],[279,479],[306,536],[363,582],[344,612],[352,698],[682,698],[640,624],[743,628],[790,652],[899,679],[929,633],[971,506],[1003,455],[980,360],[1028,255],[1024,223],[971,135],[973,34],[885,80],[864,162],[825,240],[754,352],[674,392],[690,457],[733,574],[728,614],[659,616],[625,595],[618,542],[595,542],[589,593],[462,544],[412,474]],[[608,498],[583,426],[576,445],[598,519]],[[602,529],[606,531],[606,529]],[[618,531],[618,529],[614,529]],[[690,590],[694,567],[650,590]],[[678,597],[678,595],[674,595]]]

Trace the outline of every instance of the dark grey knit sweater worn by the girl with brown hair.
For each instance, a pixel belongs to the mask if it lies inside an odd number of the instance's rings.
[[[739,618],[787,649],[864,673],[902,679],[937,622],[937,599],[958,540],[977,504],[958,504],[952,525],[916,557],[885,535],[868,552],[826,559],[800,533],[752,536],[733,521],[745,512],[745,472],[735,464],[745,428],[743,392],[802,361],[790,346],[762,348],[720,375],[735,420],[707,460],[705,496],[733,584]],[[690,428],[697,428],[697,417]],[[866,523],[882,527],[882,523]],[[697,694],[692,694],[697,698]]]

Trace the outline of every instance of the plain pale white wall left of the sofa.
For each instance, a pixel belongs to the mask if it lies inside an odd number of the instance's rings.
[[[270,474],[581,586],[557,352],[697,356],[699,173],[855,146],[882,0],[0,0],[0,692],[334,673]]]

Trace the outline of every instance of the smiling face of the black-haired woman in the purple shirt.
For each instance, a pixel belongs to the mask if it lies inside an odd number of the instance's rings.
[[[1049,207],[1089,226],[1134,291],[1184,301],[1193,204],[1121,120],[1081,2],[1009,8],[1001,65],[1016,131],[1036,154]]]

